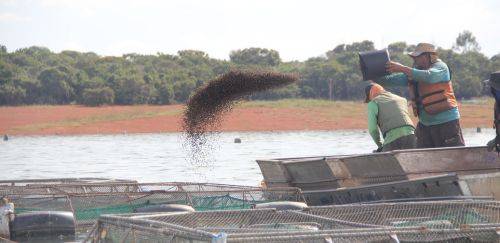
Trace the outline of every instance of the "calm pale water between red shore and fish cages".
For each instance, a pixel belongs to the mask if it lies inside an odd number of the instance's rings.
[[[464,130],[468,145],[484,145],[493,129]],[[242,143],[234,143],[241,138]],[[179,133],[11,137],[0,141],[1,179],[108,177],[141,182],[193,181],[258,185],[256,159],[366,153],[363,131],[219,134],[209,163],[193,164]]]

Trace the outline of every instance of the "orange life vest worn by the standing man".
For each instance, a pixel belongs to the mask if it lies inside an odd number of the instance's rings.
[[[430,115],[453,109],[458,106],[451,81],[429,84],[426,82],[408,82],[413,114],[418,116],[418,107]]]

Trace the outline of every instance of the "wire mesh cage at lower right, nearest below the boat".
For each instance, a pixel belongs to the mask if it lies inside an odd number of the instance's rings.
[[[321,206],[298,213],[386,227],[457,229],[469,225],[500,224],[500,202],[486,200]]]

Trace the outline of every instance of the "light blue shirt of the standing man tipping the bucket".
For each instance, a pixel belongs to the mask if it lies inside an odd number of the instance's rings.
[[[432,66],[427,70],[419,70],[413,68],[412,75],[413,75],[413,80],[417,82],[426,82],[429,84],[448,82],[451,79],[448,66],[446,65],[446,63],[444,63],[439,59],[436,63],[432,64]],[[389,86],[389,87],[407,86],[408,77],[404,73],[394,73],[382,77],[376,80],[376,82],[382,86]],[[431,115],[425,112],[423,107],[419,105],[418,113],[419,113],[419,121],[425,126],[443,124],[460,118],[458,107],[440,112],[436,115]]]

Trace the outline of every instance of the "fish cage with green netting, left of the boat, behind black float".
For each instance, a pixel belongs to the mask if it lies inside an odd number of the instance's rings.
[[[25,193],[5,195],[16,213],[33,211],[70,211],[77,225],[92,225],[102,214],[134,213],[145,207],[182,204],[196,211],[248,209],[255,204],[275,201],[304,202],[298,188],[262,189],[209,183],[112,183],[37,187]],[[50,188],[50,193],[38,189]],[[36,192],[34,194],[34,192]]]

